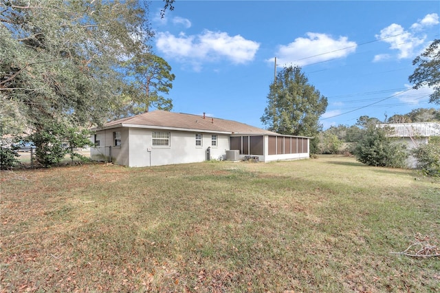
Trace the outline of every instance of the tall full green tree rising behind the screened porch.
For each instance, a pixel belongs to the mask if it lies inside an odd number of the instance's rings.
[[[327,98],[301,72],[301,67],[285,67],[270,85],[267,107],[261,117],[271,131],[314,137],[311,153],[316,153],[320,116],[327,109]]]

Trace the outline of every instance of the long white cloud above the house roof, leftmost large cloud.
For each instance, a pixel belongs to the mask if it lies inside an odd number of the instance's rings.
[[[244,39],[243,36],[229,36],[226,32],[205,30],[201,34],[174,36],[169,32],[156,35],[156,47],[167,58],[182,63],[200,65],[225,58],[232,63],[241,64],[254,60],[260,44]]]

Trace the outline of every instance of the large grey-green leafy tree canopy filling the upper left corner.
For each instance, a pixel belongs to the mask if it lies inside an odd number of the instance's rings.
[[[1,1],[0,93],[28,125],[87,125],[111,115],[121,61],[152,35],[135,1]]]

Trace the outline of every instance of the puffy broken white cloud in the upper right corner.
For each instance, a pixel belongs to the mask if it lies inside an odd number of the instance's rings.
[[[397,58],[413,58],[419,53],[419,47],[425,43],[426,35],[421,34],[423,28],[439,24],[437,13],[426,14],[426,16],[413,23],[410,30],[405,30],[401,25],[393,23],[382,29],[380,34],[376,34],[376,39],[384,41],[390,45],[391,50],[398,50]],[[380,61],[380,56],[376,55],[374,61]]]

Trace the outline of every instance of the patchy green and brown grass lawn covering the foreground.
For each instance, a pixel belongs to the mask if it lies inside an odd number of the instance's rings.
[[[440,182],[353,158],[1,172],[3,292],[440,292]]]

